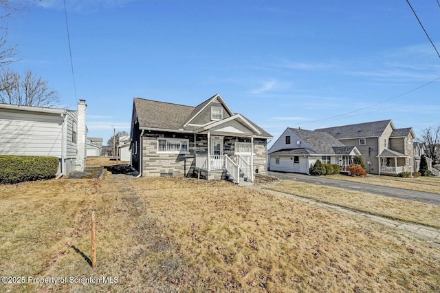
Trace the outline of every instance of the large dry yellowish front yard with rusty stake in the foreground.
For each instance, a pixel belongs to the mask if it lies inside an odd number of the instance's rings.
[[[229,182],[107,173],[1,186],[0,203],[1,276],[67,276],[2,292],[440,291],[438,246]]]

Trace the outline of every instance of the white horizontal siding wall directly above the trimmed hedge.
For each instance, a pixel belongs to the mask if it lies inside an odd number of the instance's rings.
[[[0,110],[0,155],[61,158],[63,118],[55,113]]]

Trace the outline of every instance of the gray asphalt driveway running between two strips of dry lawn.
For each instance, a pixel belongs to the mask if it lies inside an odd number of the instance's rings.
[[[400,199],[411,199],[428,204],[437,204],[440,206],[440,195],[437,193],[425,193],[422,191],[408,191],[408,189],[393,188],[386,186],[378,186],[372,184],[364,184],[357,182],[349,182],[343,180],[334,180],[326,177],[309,176],[296,173],[280,173],[270,171],[270,176],[277,177],[282,180],[296,180],[298,182],[306,182],[311,184],[320,184],[330,187],[344,188],[351,191],[363,191],[373,193],[375,195],[383,195]]]

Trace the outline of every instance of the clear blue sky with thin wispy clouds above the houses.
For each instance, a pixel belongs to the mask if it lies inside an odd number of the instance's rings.
[[[111,125],[129,132],[134,97],[196,106],[221,94],[275,139],[440,124],[440,58],[405,0],[65,1],[76,96],[63,0],[8,19],[21,59],[10,67],[48,80],[69,109],[87,100],[89,136],[104,142]],[[410,3],[440,50],[437,1]]]

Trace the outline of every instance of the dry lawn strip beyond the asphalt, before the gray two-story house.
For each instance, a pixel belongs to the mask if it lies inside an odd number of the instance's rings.
[[[360,183],[380,185],[380,186],[404,188],[404,189],[409,189],[410,191],[424,191],[427,193],[440,194],[439,177],[401,178],[401,177],[379,176],[379,175],[371,175],[371,174],[369,174],[366,177],[351,177],[346,175],[330,175],[325,177],[336,180],[345,180],[345,181],[360,182]]]

